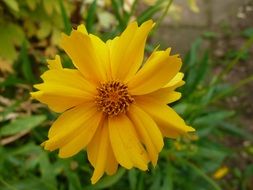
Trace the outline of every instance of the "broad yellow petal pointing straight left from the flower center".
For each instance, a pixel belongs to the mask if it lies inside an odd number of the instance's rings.
[[[41,78],[44,83],[34,85],[40,91],[31,93],[31,96],[55,112],[92,101],[96,93],[96,88],[74,69],[48,70]]]

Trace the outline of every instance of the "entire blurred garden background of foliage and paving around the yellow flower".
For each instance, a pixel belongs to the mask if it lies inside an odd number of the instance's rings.
[[[59,159],[40,144],[57,114],[30,99],[61,32],[84,23],[107,40],[132,20],[157,24],[160,44],[184,65],[182,99],[171,106],[196,133],[165,140],[156,168],[119,169],[96,185],[85,152]],[[252,190],[252,0],[0,0],[1,190]]]

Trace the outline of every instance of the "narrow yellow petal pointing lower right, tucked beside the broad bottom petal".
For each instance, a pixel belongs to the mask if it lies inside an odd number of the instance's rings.
[[[131,105],[128,116],[134,123],[136,131],[147,149],[150,160],[155,166],[158,153],[163,147],[163,137],[158,126],[148,114],[135,105]]]

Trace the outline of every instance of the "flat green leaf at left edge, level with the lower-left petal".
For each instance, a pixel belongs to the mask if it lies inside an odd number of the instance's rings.
[[[15,121],[4,125],[0,130],[0,135],[14,135],[22,131],[30,131],[31,129],[37,127],[43,121],[46,120],[45,115],[37,116],[27,116],[23,118],[18,118]]]

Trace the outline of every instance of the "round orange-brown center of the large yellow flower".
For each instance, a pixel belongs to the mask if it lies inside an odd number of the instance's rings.
[[[126,113],[134,99],[128,93],[128,87],[119,81],[101,83],[97,87],[98,94],[95,102],[99,110],[109,116],[117,116]]]

